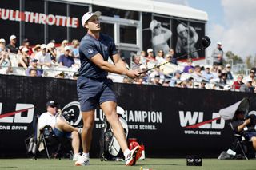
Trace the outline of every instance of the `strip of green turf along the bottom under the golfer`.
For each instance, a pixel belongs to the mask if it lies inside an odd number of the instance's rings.
[[[104,170],[122,170],[122,169],[152,169],[152,170],[183,170],[183,169],[212,169],[212,170],[255,170],[256,160],[217,160],[202,159],[202,167],[186,166],[186,159],[146,159],[138,160],[134,167],[124,166],[124,162],[100,161],[99,159],[90,159],[90,166],[74,167],[72,160],[29,160],[29,159],[2,159],[0,160],[0,169],[104,169]]]

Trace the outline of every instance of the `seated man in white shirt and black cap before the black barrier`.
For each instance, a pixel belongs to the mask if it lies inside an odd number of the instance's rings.
[[[72,139],[72,148],[74,149],[73,160],[78,160],[79,157],[79,134],[82,132],[82,128],[74,128],[58,111],[58,104],[54,101],[48,101],[46,103],[46,113],[38,119],[38,128],[42,130],[46,126],[50,126],[58,137],[66,137]]]

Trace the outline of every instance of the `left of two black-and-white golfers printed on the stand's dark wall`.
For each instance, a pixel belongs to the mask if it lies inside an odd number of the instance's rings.
[[[154,51],[162,50],[163,53],[168,53],[170,47],[168,40],[170,39],[172,32],[161,26],[161,22],[152,20],[150,22],[150,30],[152,31],[152,44]]]

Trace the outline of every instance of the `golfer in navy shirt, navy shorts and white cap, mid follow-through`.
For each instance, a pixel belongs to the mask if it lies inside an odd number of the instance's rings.
[[[108,72],[138,77],[138,70],[126,69],[110,36],[100,33],[101,26],[98,17],[101,12],[87,12],[82,16],[82,26],[87,34],[82,38],[79,46],[81,67],[78,70],[77,90],[83,120],[82,130],[82,159],[75,162],[76,166],[89,165],[89,151],[94,127],[94,111],[97,105],[106,115],[107,121],[113,129],[122,152],[126,158],[126,165],[131,166],[139,158],[139,147],[129,150],[122,125],[118,119],[116,107],[117,99],[111,87],[112,81],[107,79]],[[111,57],[114,64],[108,62]]]

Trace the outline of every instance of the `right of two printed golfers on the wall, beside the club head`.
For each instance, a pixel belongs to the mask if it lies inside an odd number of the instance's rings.
[[[190,53],[195,51],[195,44],[198,42],[198,33],[192,26],[184,26],[185,24],[178,24],[177,26],[177,44],[176,44],[176,53]],[[198,58],[198,53],[191,53],[190,57]]]

